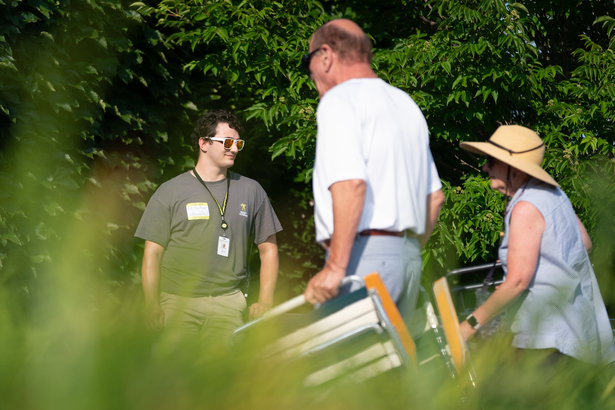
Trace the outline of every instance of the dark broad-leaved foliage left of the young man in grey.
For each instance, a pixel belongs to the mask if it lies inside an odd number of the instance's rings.
[[[193,164],[185,136],[206,83],[194,99],[185,51],[119,1],[0,11],[2,283],[31,293],[68,243],[109,281],[138,281],[135,221],[163,173]],[[70,240],[78,226],[84,246]]]

